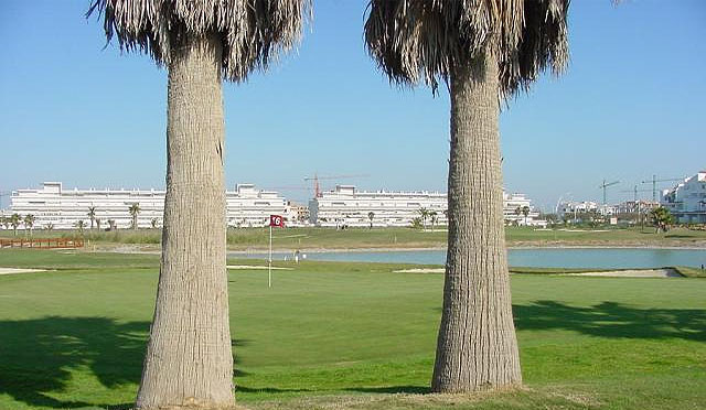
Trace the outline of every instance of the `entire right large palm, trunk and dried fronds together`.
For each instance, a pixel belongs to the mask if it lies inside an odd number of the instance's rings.
[[[365,42],[391,82],[451,98],[443,309],[434,391],[522,382],[512,317],[500,102],[568,58],[568,0],[371,0]]]

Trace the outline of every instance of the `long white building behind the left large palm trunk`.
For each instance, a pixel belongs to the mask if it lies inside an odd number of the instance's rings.
[[[78,220],[89,227],[88,208],[95,207],[101,228],[108,227],[108,220],[115,220],[118,228],[129,228],[132,225],[129,209],[137,204],[140,208],[137,225],[149,228],[152,220],[158,226],[162,224],[164,194],[163,190],[64,190],[61,182],[45,182],[39,190],[13,191],[10,213],[34,215],[35,228],[52,224],[55,229],[71,229]],[[225,196],[228,226],[266,226],[271,214],[292,219],[287,199],[277,192],[238,184],[235,191],[226,191]]]

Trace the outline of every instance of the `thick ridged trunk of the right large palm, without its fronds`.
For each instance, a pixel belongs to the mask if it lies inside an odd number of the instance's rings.
[[[451,73],[449,235],[431,387],[522,382],[503,228],[498,67],[488,53]]]

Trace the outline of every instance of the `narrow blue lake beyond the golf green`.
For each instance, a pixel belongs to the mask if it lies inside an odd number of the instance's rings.
[[[510,266],[543,268],[661,268],[706,265],[706,249],[661,248],[523,248],[509,249]],[[267,259],[267,253],[231,253],[232,257]],[[274,260],[291,253],[274,252]],[[443,265],[446,250],[307,252],[309,260]]]

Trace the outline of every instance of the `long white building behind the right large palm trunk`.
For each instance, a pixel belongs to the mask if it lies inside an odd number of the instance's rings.
[[[515,209],[527,206],[530,213],[527,225],[544,226],[546,222],[538,220],[538,212],[524,194],[503,193],[503,212],[506,222],[525,224],[524,214],[517,215]],[[335,190],[323,192],[319,197],[309,202],[311,224],[318,226],[410,226],[413,219],[421,216],[420,209],[434,213],[435,225],[447,225],[447,194],[439,192],[366,192],[357,191],[353,185],[338,185]],[[372,218],[371,218],[372,217]],[[431,217],[426,220],[431,226]]]

